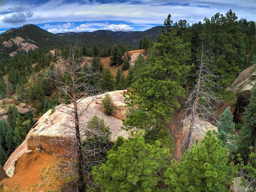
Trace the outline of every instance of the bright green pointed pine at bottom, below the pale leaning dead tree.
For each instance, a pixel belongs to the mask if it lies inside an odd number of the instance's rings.
[[[172,160],[164,182],[169,191],[228,192],[230,172],[228,151],[208,131],[201,143],[186,151],[180,161]]]

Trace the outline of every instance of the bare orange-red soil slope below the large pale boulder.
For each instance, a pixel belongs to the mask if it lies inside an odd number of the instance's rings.
[[[62,170],[57,164],[59,159],[56,155],[36,151],[22,154],[16,162],[14,176],[0,182],[3,192],[54,192],[64,189]]]

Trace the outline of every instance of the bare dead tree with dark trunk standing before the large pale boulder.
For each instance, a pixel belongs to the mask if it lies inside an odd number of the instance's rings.
[[[65,122],[64,126],[66,126],[66,130],[74,135],[74,139],[59,139],[58,145],[68,144],[66,146],[68,150],[66,150],[64,156],[68,157],[72,164],[77,165],[78,179],[75,182],[77,183],[78,192],[83,192],[86,187],[84,184],[84,175],[86,174],[84,159],[88,160],[90,156],[97,156],[97,154],[106,150],[108,146],[104,146],[100,150],[86,149],[91,150],[90,153],[85,153],[85,148],[82,146],[83,140],[90,140],[94,136],[103,137],[106,133],[99,132],[99,129],[91,129],[84,120],[84,114],[88,110],[90,103],[94,100],[94,96],[100,94],[100,90],[90,85],[88,79],[99,74],[83,69],[86,61],[76,58],[77,49],[78,42],[74,45],[70,44],[70,56],[58,57],[64,65],[54,68],[53,72],[48,74],[48,78],[55,82],[56,90],[60,93],[60,102],[63,107],[59,108],[59,110],[70,116],[70,122]],[[91,99],[84,104],[82,100],[88,96]],[[94,158],[94,161],[97,161],[97,159]],[[89,163],[94,164],[94,162]],[[74,170],[76,169],[73,167],[72,171]]]

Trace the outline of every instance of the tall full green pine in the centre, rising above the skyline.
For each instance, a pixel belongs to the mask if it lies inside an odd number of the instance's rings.
[[[133,74],[135,82],[129,97],[132,109],[126,125],[152,130],[171,120],[174,110],[180,106],[178,98],[185,94],[189,54],[189,45],[174,33],[160,35],[150,50],[145,68]]]

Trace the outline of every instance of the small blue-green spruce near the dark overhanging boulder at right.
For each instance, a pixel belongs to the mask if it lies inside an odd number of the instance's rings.
[[[217,138],[222,141],[222,147],[227,148],[229,152],[234,152],[237,149],[237,146],[234,142],[238,135],[233,134],[236,129],[229,107],[227,107],[226,110],[220,114],[220,120],[216,125],[218,132],[213,132]]]

